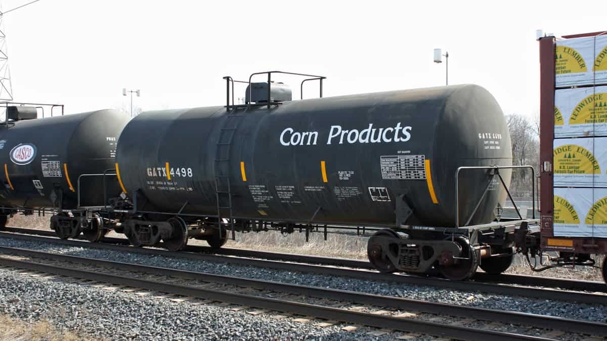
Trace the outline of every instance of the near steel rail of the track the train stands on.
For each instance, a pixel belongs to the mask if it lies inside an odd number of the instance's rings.
[[[58,238],[35,237],[31,235],[7,234],[0,232],[0,237],[19,240],[35,240],[56,245],[79,246],[81,248],[94,248],[107,251],[132,252],[145,255],[161,255],[203,262],[226,263],[231,265],[255,266],[258,268],[271,268],[282,271],[298,271],[330,276],[350,277],[361,280],[382,282],[395,282],[407,285],[436,286],[460,291],[482,291],[500,295],[531,297],[542,300],[561,300],[565,302],[603,304],[607,305],[607,295],[591,292],[561,291],[555,289],[529,288],[501,284],[456,282],[445,279],[417,277],[398,274],[382,274],[366,269],[334,268],[331,266],[310,265],[304,263],[285,263],[275,260],[262,260],[256,258],[240,258],[224,255],[198,254],[193,252],[173,252],[164,249],[135,248],[133,246],[113,245],[107,243],[89,243],[88,241],[61,240]]]

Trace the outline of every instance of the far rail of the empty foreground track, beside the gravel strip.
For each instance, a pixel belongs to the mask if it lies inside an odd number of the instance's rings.
[[[377,305],[384,308],[405,309],[410,311],[428,312],[441,316],[459,316],[478,320],[490,320],[500,323],[512,323],[532,325],[537,328],[561,329],[574,333],[585,333],[593,335],[607,335],[607,324],[588,322],[583,320],[570,320],[563,317],[542,316],[538,314],[527,314],[524,312],[501,311],[495,309],[475,308],[470,306],[453,305],[448,303],[436,303],[424,300],[405,299],[395,296],[384,296],[365,294],[362,292],[345,291],[340,289],[319,288],[316,286],[294,285],[274,281],[245,279],[226,275],[208,274],[205,272],[194,272],[161,268],[157,266],[138,265],[134,263],[114,262],[99,260],[96,258],[79,257],[65,254],[52,254],[49,252],[34,251],[29,249],[7,248],[0,246],[0,251],[7,254],[21,255],[25,257],[45,258],[59,262],[80,263],[89,266],[100,266],[114,268],[121,271],[145,272],[151,275],[172,276],[181,279],[200,280],[208,283],[240,286],[243,288],[256,288],[277,292],[288,292],[296,295],[307,295],[323,299],[347,300],[365,305]]]

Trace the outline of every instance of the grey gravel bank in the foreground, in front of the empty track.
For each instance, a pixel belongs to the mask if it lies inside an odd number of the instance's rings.
[[[29,323],[49,320],[58,329],[112,340],[369,339],[365,333],[375,330],[342,331],[344,325],[320,328],[313,323],[276,320],[270,314],[251,316],[220,306],[175,303],[152,295],[31,278],[9,269],[0,269],[0,314]]]

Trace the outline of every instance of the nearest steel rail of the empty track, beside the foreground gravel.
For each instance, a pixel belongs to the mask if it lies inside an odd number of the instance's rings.
[[[308,303],[291,302],[280,299],[270,299],[254,295],[236,294],[212,289],[197,288],[192,286],[177,285],[166,282],[155,282],[151,280],[134,279],[121,275],[104,274],[100,272],[70,269],[59,266],[44,265],[35,262],[25,262],[0,257],[0,264],[14,268],[39,271],[79,279],[93,280],[97,282],[111,283],[113,285],[130,286],[146,289],[149,291],[167,292],[175,295],[195,297],[198,299],[217,300],[236,305],[253,306],[256,308],[269,309],[280,312],[291,312],[302,316],[314,316],[320,319],[337,320],[341,322],[356,323],[376,328],[390,328],[399,331],[409,331],[438,336],[453,337],[458,339],[475,340],[551,340],[542,337],[525,336],[521,334],[505,333],[501,331],[487,331],[478,328],[467,328],[463,326],[444,325],[423,320],[401,319],[393,316],[382,316],[366,312],[350,311],[346,309],[330,308],[325,306],[311,305]]]

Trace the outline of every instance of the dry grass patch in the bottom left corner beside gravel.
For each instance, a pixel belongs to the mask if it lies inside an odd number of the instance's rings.
[[[93,340],[71,331],[58,331],[47,321],[27,323],[8,316],[0,316],[0,340],[75,341]]]

